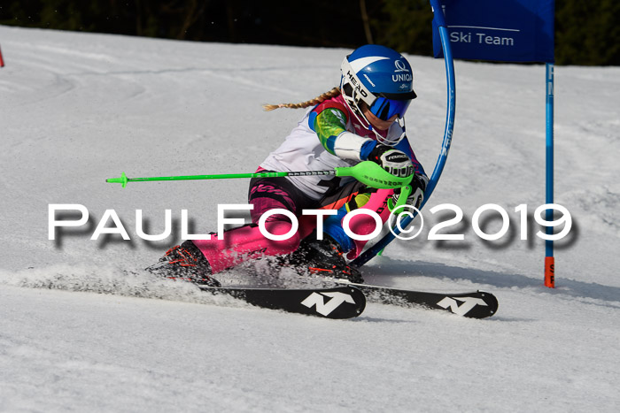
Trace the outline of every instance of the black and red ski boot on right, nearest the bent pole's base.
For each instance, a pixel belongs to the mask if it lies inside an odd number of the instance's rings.
[[[346,263],[340,244],[325,233],[322,240],[316,240],[314,236],[302,240],[299,248],[288,256],[288,261],[312,274],[364,282],[360,272]]]

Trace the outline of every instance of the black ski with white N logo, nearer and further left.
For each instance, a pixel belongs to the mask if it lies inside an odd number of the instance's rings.
[[[198,286],[211,294],[227,294],[257,307],[283,310],[325,318],[353,318],[366,307],[366,297],[359,288],[245,288]]]

